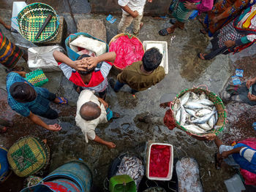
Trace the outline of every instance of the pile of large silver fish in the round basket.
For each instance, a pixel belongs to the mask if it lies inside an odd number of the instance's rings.
[[[194,134],[206,134],[218,121],[218,113],[206,93],[184,93],[173,106],[174,117],[181,126]]]

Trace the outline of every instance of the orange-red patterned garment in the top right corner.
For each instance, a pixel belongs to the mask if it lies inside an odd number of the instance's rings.
[[[209,32],[214,34],[219,28],[230,23],[230,21],[236,18],[248,4],[249,0],[222,0],[214,4],[214,7],[208,12]],[[224,18],[214,24],[212,21],[213,18],[221,14]]]

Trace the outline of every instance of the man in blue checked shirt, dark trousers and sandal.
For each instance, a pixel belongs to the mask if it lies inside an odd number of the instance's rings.
[[[48,119],[59,118],[58,112],[50,108],[50,101],[56,104],[67,104],[64,97],[56,97],[46,88],[38,88],[31,85],[23,77],[25,72],[10,72],[7,74],[8,104],[20,115],[29,118],[35,124],[50,131],[60,131],[58,124],[48,125],[38,116]]]

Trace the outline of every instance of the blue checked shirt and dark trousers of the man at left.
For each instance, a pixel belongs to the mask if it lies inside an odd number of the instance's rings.
[[[20,103],[12,98],[10,94],[10,87],[15,82],[27,82],[37,92],[37,98],[34,101],[28,103]],[[28,117],[30,112],[35,115],[44,115],[49,109],[50,101],[48,100],[50,92],[46,88],[37,88],[31,85],[30,82],[26,81],[18,73],[10,72],[7,75],[7,93],[8,93],[8,104],[24,117]]]

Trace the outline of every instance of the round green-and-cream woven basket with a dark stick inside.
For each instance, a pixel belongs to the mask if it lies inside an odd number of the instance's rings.
[[[48,15],[53,17],[39,38],[35,39],[39,28],[41,28]],[[18,13],[17,20],[20,34],[30,42],[47,42],[54,39],[58,34],[59,17],[48,4],[29,4]]]

